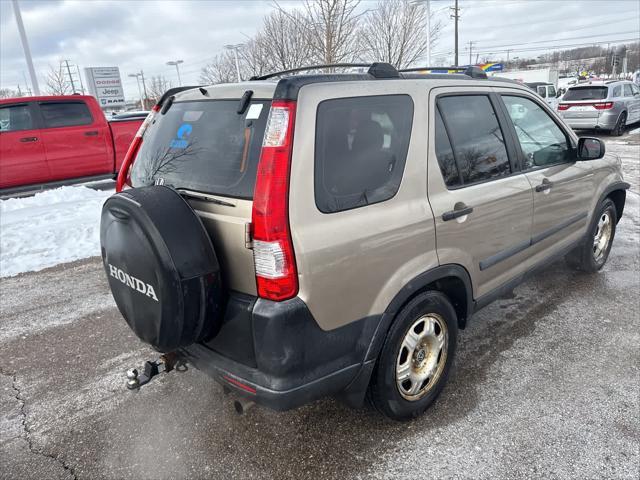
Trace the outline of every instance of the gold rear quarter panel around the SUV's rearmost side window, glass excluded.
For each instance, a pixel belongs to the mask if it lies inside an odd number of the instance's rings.
[[[418,274],[438,265],[427,201],[427,91],[407,80],[313,84],[301,89],[294,132],[289,215],[298,296],[323,330],[379,315]],[[339,93],[338,93],[339,92]],[[314,196],[316,111],[327,99],[408,94],[412,135],[402,182],[390,200],[325,214]]]

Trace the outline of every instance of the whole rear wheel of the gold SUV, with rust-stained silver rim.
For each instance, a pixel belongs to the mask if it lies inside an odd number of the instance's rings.
[[[369,400],[383,415],[410,420],[438,397],[453,363],[458,321],[440,292],[419,294],[398,313],[369,385]]]

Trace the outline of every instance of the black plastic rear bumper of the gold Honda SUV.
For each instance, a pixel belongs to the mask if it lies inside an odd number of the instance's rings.
[[[232,294],[218,335],[181,354],[218,383],[274,410],[339,393],[357,405],[373,370],[374,360],[364,360],[379,320],[324,331],[299,298],[270,302]]]

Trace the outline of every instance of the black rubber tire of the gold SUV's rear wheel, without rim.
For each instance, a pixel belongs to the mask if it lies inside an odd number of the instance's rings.
[[[443,341],[443,345],[446,344],[446,351],[444,355],[437,354],[436,370],[439,373],[434,374],[437,378],[435,383],[427,384],[428,388],[424,387],[426,390],[420,398],[407,400],[400,393],[401,386],[396,383],[396,365],[402,355],[401,349],[405,348],[403,341],[409,329],[416,321],[428,314],[434,314],[438,321],[444,321],[446,325],[446,331],[441,330],[446,334],[446,340]],[[389,329],[369,384],[370,403],[380,413],[393,420],[411,420],[421,415],[438,397],[447,382],[453,364],[457,337],[458,319],[446,295],[428,291],[416,296],[398,313]],[[443,366],[440,365],[443,361],[442,356],[444,356]],[[422,359],[425,359],[425,355],[422,355]]]

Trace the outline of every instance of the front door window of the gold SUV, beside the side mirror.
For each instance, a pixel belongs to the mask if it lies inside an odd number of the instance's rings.
[[[573,160],[569,141],[537,103],[524,97],[503,95],[525,157],[524,169],[555,165]]]

